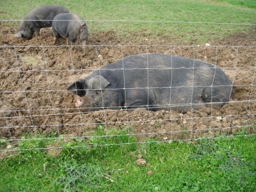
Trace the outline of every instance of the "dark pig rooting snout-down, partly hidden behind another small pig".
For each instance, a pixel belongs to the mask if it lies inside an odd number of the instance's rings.
[[[41,28],[52,27],[52,19],[60,13],[69,11],[59,4],[47,4],[33,9],[25,15],[14,37],[22,37],[26,41],[32,39],[34,33],[38,36]]]

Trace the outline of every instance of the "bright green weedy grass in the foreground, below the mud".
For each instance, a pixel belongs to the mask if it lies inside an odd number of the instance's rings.
[[[128,129],[99,126],[87,139],[66,140],[58,156],[21,150],[0,161],[0,191],[255,191],[256,137],[136,143]],[[55,134],[27,135],[17,149],[58,145]],[[48,138],[49,140],[47,140]],[[64,138],[64,137],[63,137]],[[40,139],[39,139],[40,140]],[[45,144],[44,144],[45,143]],[[106,145],[106,144],[109,145]],[[131,143],[131,144],[122,144]],[[82,145],[87,147],[77,147]],[[89,145],[96,146],[89,146]],[[147,164],[135,164],[137,155]],[[46,164],[44,172],[43,164]],[[152,175],[147,171],[152,170]]]

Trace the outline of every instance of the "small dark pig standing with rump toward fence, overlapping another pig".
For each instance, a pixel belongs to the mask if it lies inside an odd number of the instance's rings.
[[[88,29],[86,22],[81,17],[73,13],[58,14],[53,18],[52,30],[54,35],[53,44],[61,36],[67,38],[67,46],[71,42],[71,49],[74,50],[74,43],[80,39],[84,45],[83,55],[86,54],[86,42],[88,41]]]

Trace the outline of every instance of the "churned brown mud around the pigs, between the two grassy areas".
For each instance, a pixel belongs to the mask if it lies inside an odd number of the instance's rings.
[[[212,138],[223,133],[235,134],[242,128],[246,129],[246,134],[254,133],[255,32],[241,32],[205,42],[211,46],[206,47],[205,43],[197,46],[195,42],[174,45],[172,39],[166,37],[155,41],[145,37],[143,31],[134,34],[142,43],[132,39],[124,42],[114,31],[107,31],[89,34],[88,53],[83,56],[81,47],[72,52],[65,46],[63,38],[53,47],[53,34],[49,28],[41,29],[39,37],[26,42],[22,38],[13,38],[17,28],[0,23],[2,139],[17,143],[24,132],[35,133],[37,130],[41,133],[54,130],[67,137],[91,136],[98,124],[103,124],[106,130],[129,127],[129,134],[134,134],[138,141],[147,138],[160,141]],[[173,54],[217,64],[234,85],[230,103],[219,110],[209,107],[186,114],[144,109],[80,113],[74,107],[76,97],[66,91],[74,79],[84,78],[102,65],[138,53]]]

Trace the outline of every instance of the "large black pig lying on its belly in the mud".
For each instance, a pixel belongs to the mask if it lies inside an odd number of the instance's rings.
[[[190,58],[138,54],[105,65],[69,85],[82,112],[100,109],[175,110],[221,108],[232,95],[222,69]]]

